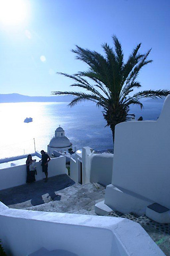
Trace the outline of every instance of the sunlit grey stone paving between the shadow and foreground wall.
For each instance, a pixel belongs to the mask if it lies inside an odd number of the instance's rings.
[[[74,185],[57,191],[53,201],[46,204],[27,207],[27,210],[64,212],[95,215],[95,204],[104,199],[105,188],[92,183]]]

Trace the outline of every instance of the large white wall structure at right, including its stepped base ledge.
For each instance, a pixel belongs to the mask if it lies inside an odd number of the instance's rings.
[[[124,214],[146,214],[160,223],[170,223],[170,95],[157,121],[117,124],[112,183],[105,200],[96,204],[103,215],[109,206]]]

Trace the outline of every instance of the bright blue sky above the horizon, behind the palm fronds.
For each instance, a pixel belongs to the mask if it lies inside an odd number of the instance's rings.
[[[138,76],[142,90],[170,90],[169,0],[0,0],[0,93],[50,96],[72,91],[69,78],[87,70],[75,45],[104,54],[101,44],[122,44],[126,61],[137,44],[152,48]]]

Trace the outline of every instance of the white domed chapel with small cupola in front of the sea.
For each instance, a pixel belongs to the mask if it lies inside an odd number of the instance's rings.
[[[58,127],[55,130],[55,136],[50,140],[49,145],[47,146],[48,154],[52,155],[53,150],[60,151],[63,153],[67,151],[72,146],[70,140],[65,137],[64,130],[62,127]]]

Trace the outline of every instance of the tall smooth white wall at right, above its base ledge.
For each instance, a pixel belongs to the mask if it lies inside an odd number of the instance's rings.
[[[169,180],[170,95],[157,121],[116,125],[112,190],[115,190],[115,186],[127,190],[127,195],[170,208]],[[105,202],[114,208],[115,196],[109,192],[109,186],[106,188],[108,198],[105,197]],[[126,197],[124,203],[130,204]]]

